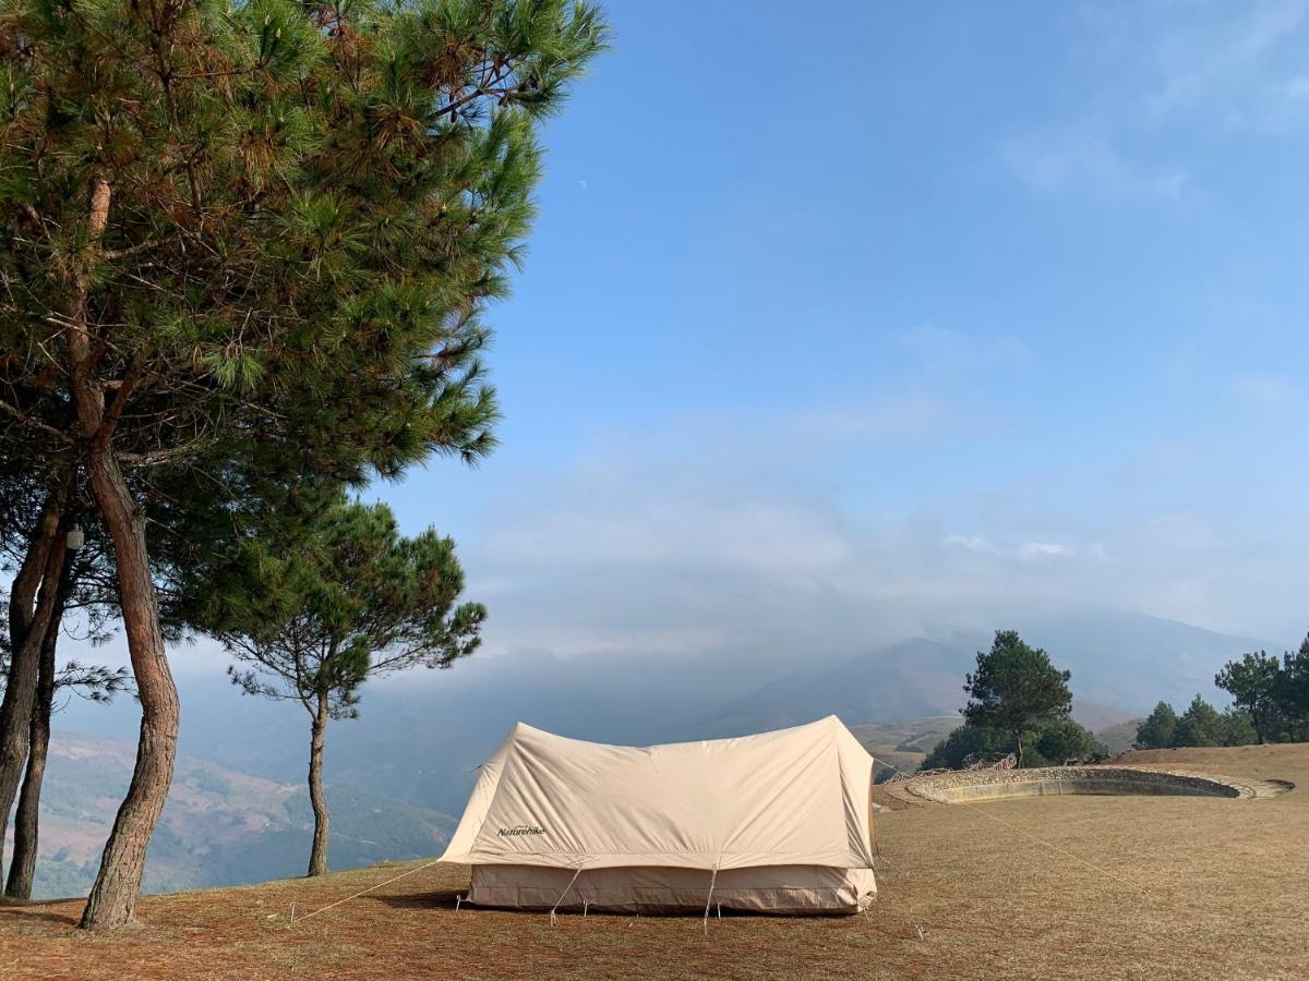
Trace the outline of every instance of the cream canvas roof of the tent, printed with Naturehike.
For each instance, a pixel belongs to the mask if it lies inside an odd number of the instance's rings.
[[[627,747],[518,723],[441,857],[564,869],[872,867],[873,757],[835,715],[737,739]]]

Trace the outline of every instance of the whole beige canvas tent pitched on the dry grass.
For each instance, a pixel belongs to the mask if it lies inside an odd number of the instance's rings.
[[[441,861],[488,906],[853,913],[876,891],[872,776],[835,715],[643,748],[518,723]]]

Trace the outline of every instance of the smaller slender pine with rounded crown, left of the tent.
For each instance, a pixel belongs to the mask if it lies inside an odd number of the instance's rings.
[[[327,871],[323,794],[327,722],[359,714],[360,688],[412,667],[449,667],[478,646],[486,610],[454,606],[463,572],[454,544],[428,530],[402,538],[385,505],[339,500],[293,539],[245,543],[226,586],[211,596],[207,629],[246,668],[247,695],[297,701],[310,718],[309,875]]]

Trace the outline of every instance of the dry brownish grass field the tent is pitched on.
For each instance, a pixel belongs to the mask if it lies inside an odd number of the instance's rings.
[[[868,917],[724,916],[707,937],[695,917],[567,916],[551,929],[545,914],[456,912],[467,872],[446,866],[288,922],[292,903],[298,918],[421,862],[151,896],[139,925],[106,937],[72,930],[76,900],[3,906],[0,974],[1309,977],[1309,746],[1128,761],[1297,787],[1266,800],[901,806],[878,820],[881,895]]]

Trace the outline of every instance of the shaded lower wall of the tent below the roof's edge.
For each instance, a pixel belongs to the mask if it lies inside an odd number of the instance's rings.
[[[583,908],[623,913],[703,910],[711,874],[703,869],[624,866],[583,870],[479,865],[469,901],[509,909]],[[569,886],[569,883],[572,883]],[[713,882],[712,904],[751,913],[856,913],[873,897],[868,869],[814,865],[726,869]],[[567,892],[565,892],[567,891]]]

